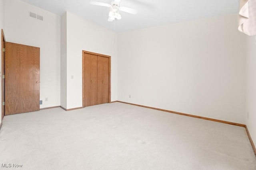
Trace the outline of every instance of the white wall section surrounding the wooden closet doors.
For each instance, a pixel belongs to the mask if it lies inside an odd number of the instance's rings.
[[[82,50],[111,56],[111,100],[117,100],[116,40],[116,33],[67,12],[66,109],[82,107]]]

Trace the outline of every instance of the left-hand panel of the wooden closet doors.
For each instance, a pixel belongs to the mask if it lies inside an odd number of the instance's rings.
[[[84,104],[97,104],[97,55],[84,53]]]

